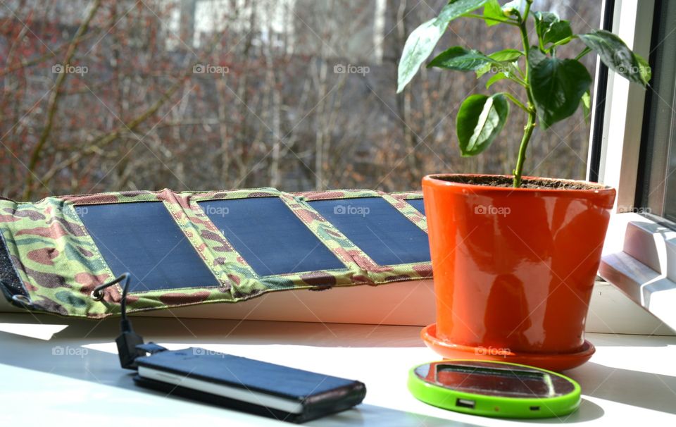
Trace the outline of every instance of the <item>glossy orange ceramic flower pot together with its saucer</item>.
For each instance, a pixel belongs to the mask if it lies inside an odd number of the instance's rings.
[[[437,323],[423,339],[444,357],[558,371],[584,363],[594,353],[584,321],[615,190],[543,178],[559,188],[463,183],[472,180],[511,177],[423,179],[437,297]]]

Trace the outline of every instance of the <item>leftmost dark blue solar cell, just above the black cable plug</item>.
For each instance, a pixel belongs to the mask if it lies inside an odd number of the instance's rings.
[[[162,202],[87,205],[77,213],[115,276],[131,274],[130,291],[218,285]]]

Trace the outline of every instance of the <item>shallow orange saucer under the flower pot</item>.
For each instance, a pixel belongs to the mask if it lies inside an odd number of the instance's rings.
[[[420,331],[420,337],[423,338],[425,345],[442,355],[445,359],[478,359],[478,360],[496,360],[508,361],[515,364],[536,366],[549,371],[566,371],[576,368],[588,361],[596,348],[594,345],[584,340],[582,349],[574,353],[515,353],[491,351],[491,348],[471,347],[467,345],[453,344],[437,338],[437,323],[425,326]]]

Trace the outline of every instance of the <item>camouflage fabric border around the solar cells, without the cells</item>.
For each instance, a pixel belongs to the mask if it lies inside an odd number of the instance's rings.
[[[217,199],[280,197],[345,268],[327,271],[258,276],[202,211],[198,202]],[[47,197],[39,202],[0,199],[0,233],[20,283],[30,298],[29,309],[63,316],[102,318],[119,314],[121,289],[109,287],[104,299],[90,297],[94,287],[113,278],[113,272],[82,224],[78,214],[87,205],[163,202],[182,233],[218,279],[215,287],[130,292],[127,310],[146,311],[212,302],[237,302],[264,292],[289,289],[318,290],[333,286],[380,285],[430,278],[430,263],[380,266],[326,221],[307,203],[320,199],[382,197],[427,231],[424,216],[404,202],[420,192],[387,194],[373,190],[333,190],[284,193],[274,188],[210,192],[108,192]]]

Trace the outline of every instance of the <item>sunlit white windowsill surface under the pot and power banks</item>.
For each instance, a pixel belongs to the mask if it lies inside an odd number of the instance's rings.
[[[42,323],[42,324],[41,324]],[[120,369],[118,321],[0,314],[0,425],[289,426],[270,419],[138,388]],[[528,426],[594,422],[608,426],[676,424],[676,338],[590,333],[591,361],[566,374],[582,386],[570,416],[541,421],[487,419],[418,402],[408,369],[438,359],[420,328],[322,323],[137,318],[134,328],[171,349],[205,347],[363,381],[356,409],[306,426]],[[54,355],[60,347],[64,355]],[[39,420],[39,421],[38,421]],[[453,423],[455,422],[455,423]],[[628,424],[627,424],[628,423]]]

